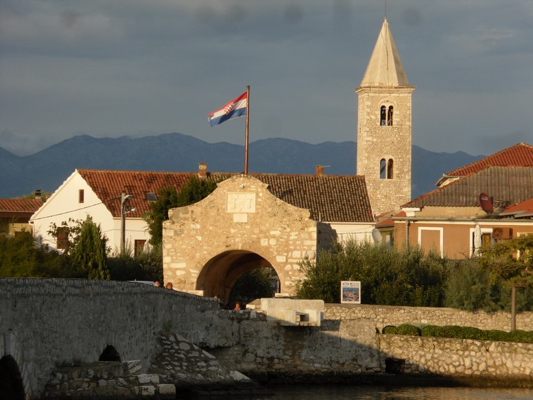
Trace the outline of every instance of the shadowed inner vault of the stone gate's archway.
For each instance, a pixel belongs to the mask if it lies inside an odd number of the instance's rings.
[[[273,268],[279,277],[275,264],[257,252],[249,250],[222,252],[205,263],[198,274],[196,290],[202,290],[205,296],[217,296],[226,303],[237,279],[256,268]]]

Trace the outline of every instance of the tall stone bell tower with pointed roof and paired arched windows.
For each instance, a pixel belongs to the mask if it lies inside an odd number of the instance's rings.
[[[364,175],[372,211],[397,211],[411,200],[410,86],[387,19],[366,67],[359,96],[357,174]]]

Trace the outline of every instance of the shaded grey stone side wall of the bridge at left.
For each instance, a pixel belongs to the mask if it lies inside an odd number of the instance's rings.
[[[158,331],[231,346],[231,324],[217,301],[141,283],[0,279],[0,354],[14,358],[28,398],[43,392],[54,368],[95,362],[109,344],[145,370]]]

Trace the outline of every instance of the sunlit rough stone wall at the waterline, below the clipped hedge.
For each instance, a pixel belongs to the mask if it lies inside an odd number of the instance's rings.
[[[379,335],[382,364],[394,373],[453,377],[533,379],[533,344]]]

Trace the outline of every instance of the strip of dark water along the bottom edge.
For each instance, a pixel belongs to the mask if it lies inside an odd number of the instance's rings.
[[[270,387],[269,387],[270,388]],[[249,400],[525,400],[533,388],[403,388],[391,386],[276,386],[271,397]],[[235,397],[242,400],[243,397]]]

